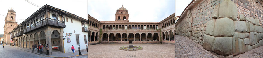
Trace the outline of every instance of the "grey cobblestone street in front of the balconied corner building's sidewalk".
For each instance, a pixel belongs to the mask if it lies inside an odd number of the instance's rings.
[[[51,58],[42,55],[34,54],[17,48],[12,48],[9,45],[0,45],[0,58]]]

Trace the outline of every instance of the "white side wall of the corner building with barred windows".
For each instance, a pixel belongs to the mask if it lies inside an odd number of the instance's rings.
[[[82,32],[81,21],[77,21],[69,17],[65,17],[65,21],[66,21],[66,18],[68,18],[68,22],[66,22],[66,28],[63,29],[63,32],[64,32],[63,36],[66,36],[66,33],[70,33],[71,42],[68,43],[67,38],[63,37],[63,38],[66,38],[63,40],[65,53],[72,52],[71,50],[72,45],[74,46],[75,50],[78,50],[78,45],[80,45],[81,50],[86,49],[86,45],[88,44],[85,44],[84,35],[86,35],[86,38],[88,38],[87,36],[88,33]],[[73,23],[71,23],[71,19],[73,20]],[[76,31],[75,33],[74,33],[74,30]],[[79,44],[77,44],[77,41],[76,41],[76,34],[79,35]]]

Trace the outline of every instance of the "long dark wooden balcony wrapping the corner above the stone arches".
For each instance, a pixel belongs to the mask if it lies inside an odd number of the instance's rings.
[[[26,33],[32,32],[34,30],[41,29],[41,28],[46,27],[46,26],[52,26],[52,27],[57,27],[57,28],[65,28],[66,27],[64,21],[46,18],[46,19],[43,19],[43,20],[33,24],[30,27],[27,27],[26,29],[24,29],[23,33],[26,34]]]

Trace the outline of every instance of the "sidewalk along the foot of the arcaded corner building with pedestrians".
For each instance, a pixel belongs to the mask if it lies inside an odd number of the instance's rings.
[[[14,47],[14,46],[11,46],[12,48],[17,48],[17,49],[20,49],[20,50],[25,50],[27,52],[32,52],[32,49],[25,49],[25,48],[20,48],[20,47]],[[74,55],[69,52],[69,53],[52,53],[52,55],[46,55],[46,53],[42,52],[42,54],[38,53],[37,50],[35,50],[35,52],[32,52],[32,53],[35,53],[35,54],[38,54],[38,55],[43,55],[43,56],[46,56],[46,57],[55,57],[55,58],[68,58],[68,57],[77,57],[77,56],[83,56],[83,55],[88,55],[88,52],[86,51],[83,51],[81,52],[82,55],[79,55],[79,52],[76,52],[74,53]]]

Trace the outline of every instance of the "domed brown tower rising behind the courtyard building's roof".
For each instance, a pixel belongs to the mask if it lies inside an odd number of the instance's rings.
[[[115,21],[129,21],[128,10],[123,6],[116,10]]]

